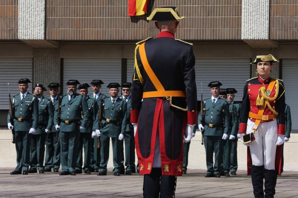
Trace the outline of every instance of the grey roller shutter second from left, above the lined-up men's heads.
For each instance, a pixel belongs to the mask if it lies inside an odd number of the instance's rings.
[[[63,94],[67,92],[67,81],[78,80],[80,83],[89,83],[95,79],[102,80],[102,93],[108,95],[107,85],[119,83],[121,85],[121,59],[69,59],[63,60]],[[92,89],[89,88],[89,94]],[[120,95],[120,93],[119,93]]]

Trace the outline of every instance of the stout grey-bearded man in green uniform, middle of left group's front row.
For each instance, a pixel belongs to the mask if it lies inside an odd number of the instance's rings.
[[[58,108],[55,110],[54,123],[56,130],[60,129],[61,167],[59,175],[76,175],[77,164],[77,134],[80,129],[85,129],[89,112],[86,97],[77,94],[77,80],[69,80],[66,83],[68,94],[61,96],[60,118],[58,122]],[[83,120],[82,119],[82,112]],[[60,125],[59,125],[60,124]]]

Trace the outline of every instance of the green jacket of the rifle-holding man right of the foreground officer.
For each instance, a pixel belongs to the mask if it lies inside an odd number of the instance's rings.
[[[212,105],[211,97],[205,99],[205,110],[204,113],[204,121],[205,123],[201,123],[201,115],[198,117],[198,121],[204,126],[204,135],[209,136],[222,136],[224,133],[228,134],[228,126],[230,123],[230,115],[229,115],[229,104],[226,100],[218,98],[215,105]],[[227,123],[227,124],[226,124]],[[216,127],[209,127],[208,124],[213,124]]]

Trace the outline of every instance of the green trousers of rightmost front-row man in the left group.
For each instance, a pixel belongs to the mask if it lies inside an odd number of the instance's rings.
[[[120,172],[120,140],[117,137],[111,137],[113,147],[113,173]],[[110,137],[100,134],[100,149],[101,149],[101,160],[100,160],[100,171],[107,172],[107,164],[109,160],[109,148],[110,148]]]

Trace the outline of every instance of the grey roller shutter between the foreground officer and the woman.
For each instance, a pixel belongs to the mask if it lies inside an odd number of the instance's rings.
[[[203,99],[211,97],[208,84],[219,81],[221,88],[235,88],[235,101],[242,101],[245,81],[250,78],[250,59],[196,59],[195,82],[198,100],[201,100],[201,83]]]

